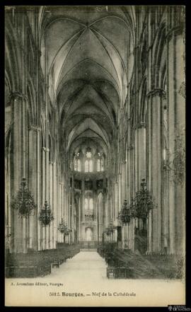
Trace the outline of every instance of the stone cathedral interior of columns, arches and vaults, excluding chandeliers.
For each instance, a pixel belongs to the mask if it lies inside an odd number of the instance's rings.
[[[5,9],[10,253],[115,242],[184,254],[184,8]],[[22,178],[37,207],[28,218],[11,206]],[[154,209],[121,224],[142,178]],[[54,219],[42,226],[46,201]]]

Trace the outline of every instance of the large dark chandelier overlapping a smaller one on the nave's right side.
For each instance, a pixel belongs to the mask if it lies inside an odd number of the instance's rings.
[[[149,212],[154,208],[154,202],[151,196],[151,192],[146,188],[145,179],[142,179],[141,190],[136,192],[136,196],[131,204],[131,209],[134,212],[134,216],[146,220],[149,217]]]

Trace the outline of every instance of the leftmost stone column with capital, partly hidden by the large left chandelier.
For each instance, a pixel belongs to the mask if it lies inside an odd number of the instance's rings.
[[[11,94],[11,112],[13,131],[11,132],[11,196],[15,197],[22,178],[25,178],[26,168],[26,125],[25,125],[26,98],[21,93]],[[11,250],[15,253],[27,252],[26,219],[19,218],[18,212],[11,212]]]

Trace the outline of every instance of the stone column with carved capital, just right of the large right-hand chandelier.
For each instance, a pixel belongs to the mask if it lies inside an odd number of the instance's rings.
[[[156,206],[149,220],[149,250],[158,253],[161,250],[161,110],[163,90],[155,89],[148,97],[148,131],[149,131],[149,190]],[[151,187],[151,188],[150,188]],[[150,224],[151,222],[151,224]],[[150,245],[151,244],[151,245]],[[148,251],[149,251],[148,250]]]

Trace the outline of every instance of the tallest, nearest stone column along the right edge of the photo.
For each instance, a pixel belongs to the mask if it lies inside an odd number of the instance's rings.
[[[185,253],[185,178],[178,180],[176,173],[181,168],[178,168],[178,162],[174,166],[176,156],[181,153],[180,140],[185,145],[184,10],[183,6],[173,6],[168,13],[168,147],[169,162],[173,167],[169,183],[170,253]]]

